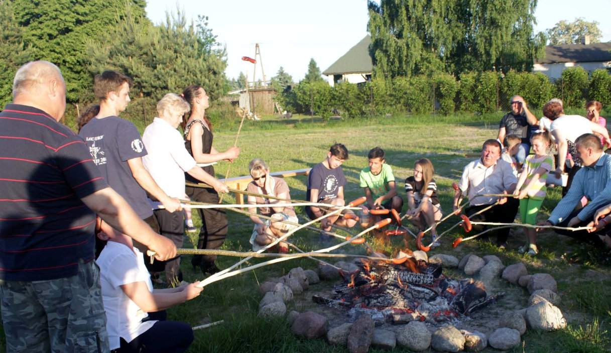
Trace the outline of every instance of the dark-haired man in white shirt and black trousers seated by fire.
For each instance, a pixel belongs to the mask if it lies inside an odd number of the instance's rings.
[[[482,196],[485,194],[513,194],[518,180],[511,165],[500,159],[501,145],[497,140],[486,140],[481,147],[481,158],[464,167],[463,176],[458,184],[459,191],[454,194],[453,208],[456,211],[461,195],[469,197],[470,206],[465,210],[467,216],[477,213],[494,203],[488,211],[474,216],[478,222],[513,223],[518,213],[519,201],[516,198]],[[474,227],[477,229],[480,227]],[[497,246],[507,247],[509,228],[497,232]]]

